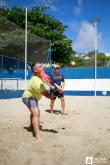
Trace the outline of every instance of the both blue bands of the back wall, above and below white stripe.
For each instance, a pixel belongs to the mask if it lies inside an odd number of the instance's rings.
[[[94,79],[93,67],[61,68],[61,73],[65,79]],[[46,68],[45,72],[52,74],[52,68]],[[32,76],[31,70],[28,70],[27,79]],[[0,78],[20,78],[24,79],[24,70],[3,70],[0,72]],[[110,79],[110,67],[97,67],[97,79]],[[0,90],[0,99],[21,97],[23,91]],[[65,91],[65,95],[94,96],[94,91]],[[97,91],[97,96],[101,96],[102,91]],[[110,96],[107,91],[106,96]]]

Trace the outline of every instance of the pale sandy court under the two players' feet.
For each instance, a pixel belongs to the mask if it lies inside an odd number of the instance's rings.
[[[0,100],[0,165],[110,165],[110,97],[66,96],[67,116],[49,113],[49,100],[39,102],[42,142],[29,126],[21,99]]]

